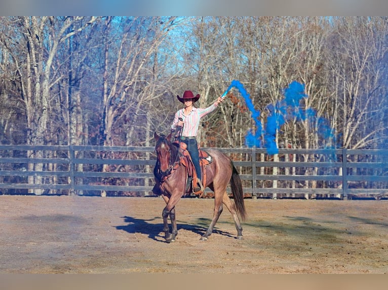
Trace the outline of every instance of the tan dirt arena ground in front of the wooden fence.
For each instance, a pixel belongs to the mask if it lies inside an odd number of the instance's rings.
[[[246,199],[244,239],[212,199],[0,196],[0,273],[388,273],[388,201]]]

